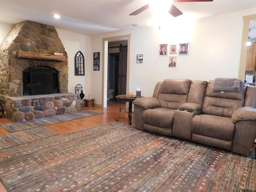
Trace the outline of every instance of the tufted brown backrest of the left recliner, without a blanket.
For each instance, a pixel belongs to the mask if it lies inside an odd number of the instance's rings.
[[[189,79],[166,79],[159,91],[158,101],[160,107],[178,109],[187,102],[191,80]]]

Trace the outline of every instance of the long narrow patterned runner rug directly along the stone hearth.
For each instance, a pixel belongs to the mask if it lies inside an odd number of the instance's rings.
[[[31,129],[35,127],[41,127],[46,125],[51,125],[55,123],[70,121],[74,119],[94,116],[98,114],[103,114],[102,112],[94,111],[94,110],[84,110],[79,111],[75,113],[69,113],[69,114],[62,114],[62,115],[55,115],[51,117],[43,117],[28,121],[21,121],[21,122],[14,122],[9,124],[3,124],[1,125],[5,130],[8,132],[16,132],[16,131],[22,131],[26,129]]]

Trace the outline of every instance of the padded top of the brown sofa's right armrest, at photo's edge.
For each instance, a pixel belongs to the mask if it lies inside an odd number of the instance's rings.
[[[237,123],[240,121],[253,121],[256,122],[256,108],[241,107],[234,111],[232,114],[232,122]]]

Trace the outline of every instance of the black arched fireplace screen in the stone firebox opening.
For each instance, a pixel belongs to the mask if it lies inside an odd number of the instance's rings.
[[[48,67],[32,67],[23,71],[23,95],[58,93],[58,71]]]

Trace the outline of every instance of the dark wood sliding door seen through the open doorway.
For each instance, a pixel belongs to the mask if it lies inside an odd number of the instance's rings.
[[[118,77],[118,95],[126,94],[127,78],[127,46],[120,47],[119,53],[119,77]]]

